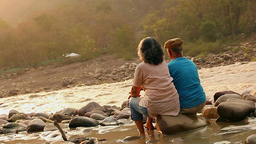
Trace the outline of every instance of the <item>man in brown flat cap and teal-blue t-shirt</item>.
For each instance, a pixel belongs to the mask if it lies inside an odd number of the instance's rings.
[[[196,114],[204,108],[206,95],[200,84],[196,65],[182,55],[182,44],[180,38],[174,38],[165,42],[164,48],[172,59],[168,68],[179,94],[180,113]]]

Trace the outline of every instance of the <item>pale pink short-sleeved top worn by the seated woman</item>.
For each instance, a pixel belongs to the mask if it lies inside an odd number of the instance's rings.
[[[142,62],[134,73],[133,86],[142,86],[145,96],[139,105],[148,108],[149,116],[177,116],[180,112],[179,95],[172,83],[166,61],[159,65]]]

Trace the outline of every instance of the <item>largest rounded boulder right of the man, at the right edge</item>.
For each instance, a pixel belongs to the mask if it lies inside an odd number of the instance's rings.
[[[244,120],[254,111],[254,102],[237,98],[229,98],[226,102],[220,103],[217,107],[217,112],[220,118],[231,122]]]

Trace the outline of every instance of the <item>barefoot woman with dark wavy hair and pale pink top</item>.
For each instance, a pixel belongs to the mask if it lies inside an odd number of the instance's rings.
[[[154,130],[153,117],[177,116],[180,102],[159,42],[152,37],[144,38],[138,45],[138,56],[142,62],[134,72],[129,106],[140,136],[145,136],[144,127]],[[140,98],[141,90],[145,96]],[[148,117],[144,126],[143,115]]]

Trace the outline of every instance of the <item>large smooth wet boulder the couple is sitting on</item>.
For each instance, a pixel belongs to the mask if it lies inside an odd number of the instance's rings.
[[[162,134],[176,134],[180,132],[186,132],[189,130],[195,130],[208,126],[210,122],[201,116],[196,114],[181,114],[178,116],[158,116],[157,128],[158,132]]]

